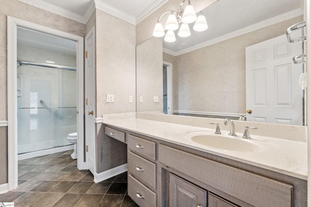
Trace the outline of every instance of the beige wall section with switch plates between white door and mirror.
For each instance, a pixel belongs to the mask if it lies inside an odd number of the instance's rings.
[[[135,25],[96,10],[97,117],[136,111],[135,46]],[[114,94],[115,102],[106,103],[106,94]]]

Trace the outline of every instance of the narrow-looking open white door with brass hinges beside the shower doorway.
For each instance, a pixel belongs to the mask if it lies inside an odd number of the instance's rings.
[[[86,166],[94,175],[95,173],[95,39],[94,27],[86,35]]]

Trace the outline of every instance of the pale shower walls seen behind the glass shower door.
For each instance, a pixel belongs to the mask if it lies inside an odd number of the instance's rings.
[[[17,42],[17,59],[28,62],[76,67],[76,57]],[[17,128],[18,154],[68,145],[67,134],[76,132],[76,108],[53,109],[59,116],[43,107],[76,107],[76,71],[32,65],[17,65]]]

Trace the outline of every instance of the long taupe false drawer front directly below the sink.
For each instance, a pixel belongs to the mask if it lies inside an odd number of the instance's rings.
[[[159,162],[256,207],[292,207],[293,186],[159,144]]]

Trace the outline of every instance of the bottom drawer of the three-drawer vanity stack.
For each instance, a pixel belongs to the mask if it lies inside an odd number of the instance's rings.
[[[128,175],[128,192],[127,194],[140,207],[156,207],[156,193],[151,191],[140,183],[132,175]]]

